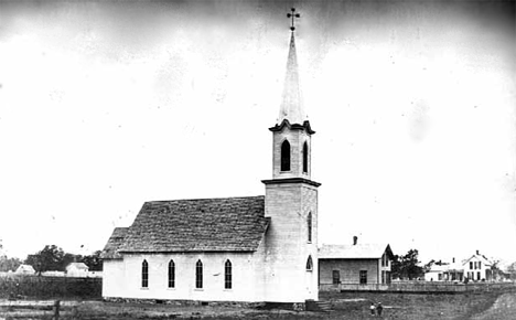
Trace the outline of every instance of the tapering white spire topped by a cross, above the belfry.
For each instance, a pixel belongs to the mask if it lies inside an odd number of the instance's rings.
[[[299,89],[299,74],[298,74],[298,57],[295,54],[295,40],[294,40],[294,18],[299,18],[299,13],[294,13],[295,9],[291,9],[292,13],[287,17],[292,19],[290,26],[290,47],[289,57],[287,60],[287,74],[284,76],[283,96],[278,117],[278,124],[284,119],[289,120],[291,125],[302,125],[307,116],[304,115],[301,92]]]

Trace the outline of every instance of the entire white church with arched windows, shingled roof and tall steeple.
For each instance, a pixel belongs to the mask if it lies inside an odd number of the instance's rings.
[[[291,30],[265,195],[146,202],[106,244],[104,298],[318,300],[320,183],[311,180],[314,131],[301,104]]]

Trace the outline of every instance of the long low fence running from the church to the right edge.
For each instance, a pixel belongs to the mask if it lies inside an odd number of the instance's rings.
[[[454,284],[438,281],[410,281],[393,282],[390,285],[381,284],[321,284],[320,291],[385,291],[385,292],[486,292],[501,290],[516,290],[515,282],[473,282]]]

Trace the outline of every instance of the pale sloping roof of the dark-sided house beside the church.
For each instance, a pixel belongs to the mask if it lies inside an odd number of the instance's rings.
[[[379,259],[387,253],[393,257],[389,245],[356,244],[356,245],[323,245],[319,248],[320,259]]]

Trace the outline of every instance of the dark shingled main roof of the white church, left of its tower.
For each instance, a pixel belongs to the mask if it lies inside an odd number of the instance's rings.
[[[118,252],[254,252],[264,213],[265,196],[146,202]]]

